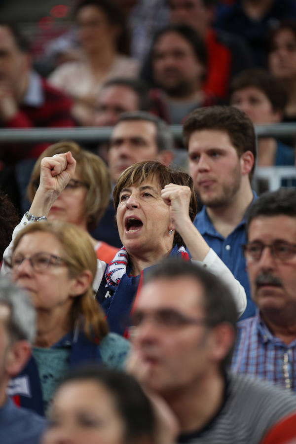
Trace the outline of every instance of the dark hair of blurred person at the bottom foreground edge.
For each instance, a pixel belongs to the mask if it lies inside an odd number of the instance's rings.
[[[138,443],[141,437],[148,437],[151,443],[154,442],[156,418],[153,408],[133,376],[119,370],[88,365],[71,370],[58,388],[80,381],[102,384],[114,397],[115,406],[126,426],[126,444]]]

